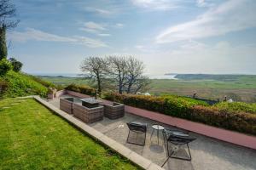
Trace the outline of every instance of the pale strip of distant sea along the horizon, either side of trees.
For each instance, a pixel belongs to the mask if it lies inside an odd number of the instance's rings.
[[[82,74],[76,74],[76,73],[35,73],[32,74],[35,76],[49,76],[49,77],[82,77]],[[150,79],[172,79],[172,80],[177,80],[175,78],[177,75],[147,75]]]

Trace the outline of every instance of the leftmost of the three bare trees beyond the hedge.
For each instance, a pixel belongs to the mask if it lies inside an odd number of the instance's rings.
[[[90,79],[95,80],[97,84],[97,92],[102,96],[102,80],[105,76],[106,62],[101,57],[85,58],[80,65],[81,71],[89,73]]]

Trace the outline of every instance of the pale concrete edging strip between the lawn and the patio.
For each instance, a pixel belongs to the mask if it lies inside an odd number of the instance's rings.
[[[120,155],[125,156],[127,159],[137,164],[139,167],[143,167],[146,170],[164,170],[164,168],[156,165],[154,162],[149,161],[143,156],[138,155],[136,152],[126,148],[124,145],[119,144],[115,140],[108,138],[108,136],[104,135],[103,133],[100,133],[96,129],[86,125],[84,122],[79,121],[79,119],[68,115],[66,112],[61,111],[54,105],[49,104],[44,99],[41,99],[39,96],[32,96],[32,98],[36,99],[39,103],[49,108],[49,110],[54,111],[57,115],[67,120],[67,122],[72,123],[74,126],[79,127],[79,129],[83,130],[85,133],[90,134],[91,137],[101,141],[102,144],[106,144],[112,150],[115,150]]]

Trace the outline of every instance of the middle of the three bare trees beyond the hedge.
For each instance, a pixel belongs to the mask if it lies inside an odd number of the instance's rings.
[[[125,78],[127,77],[127,64],[125,57],[109,56],[108,74],[117,82],[119,94],[123,94],[125,87]]]

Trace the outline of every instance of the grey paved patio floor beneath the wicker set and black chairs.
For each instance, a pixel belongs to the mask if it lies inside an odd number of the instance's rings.
[[[61,98],[73,97],[70,95],[62,95]],[[75,103],[80,103],[79,99],[74,99]],[[50,104],[60,108],[60,99],[56,98],[49,101]],[[144,146],[137,144],[126,143],[129,129],[126,122],[143,122],[148,124],[147,138]],[[104,133],[109,138],[125,145],[125,147],[137,152],[137,154],[153,161],[158,165],[162,165],[167,158],[166,144],[163,140],[163,135],[160,133],[159,144],[157,144],[156,132],[152,135],[152,125],[160,124],[166,128],[175,129],[175,127],[166,126],[160,122],[154,122],[142,116],[135,116],[130,113],[125,113],[124,117],[116,120],[110,120],[104,117],[100,122],[88,124],[90,127],[95,128],[101,133]],[[236,144],[226,143],[217,139],[211,139],[206,136],[189,133],[189,135],[196,138],[195,141],[189,144],[192,155],[192,161],[182,161],[170,158],[164,168],[166,169],[256,169],[256,151],[250,150]],[[131,139],[141,140],[139,135],[131,135]],[[181,153],[183,154],[183,150]]]

